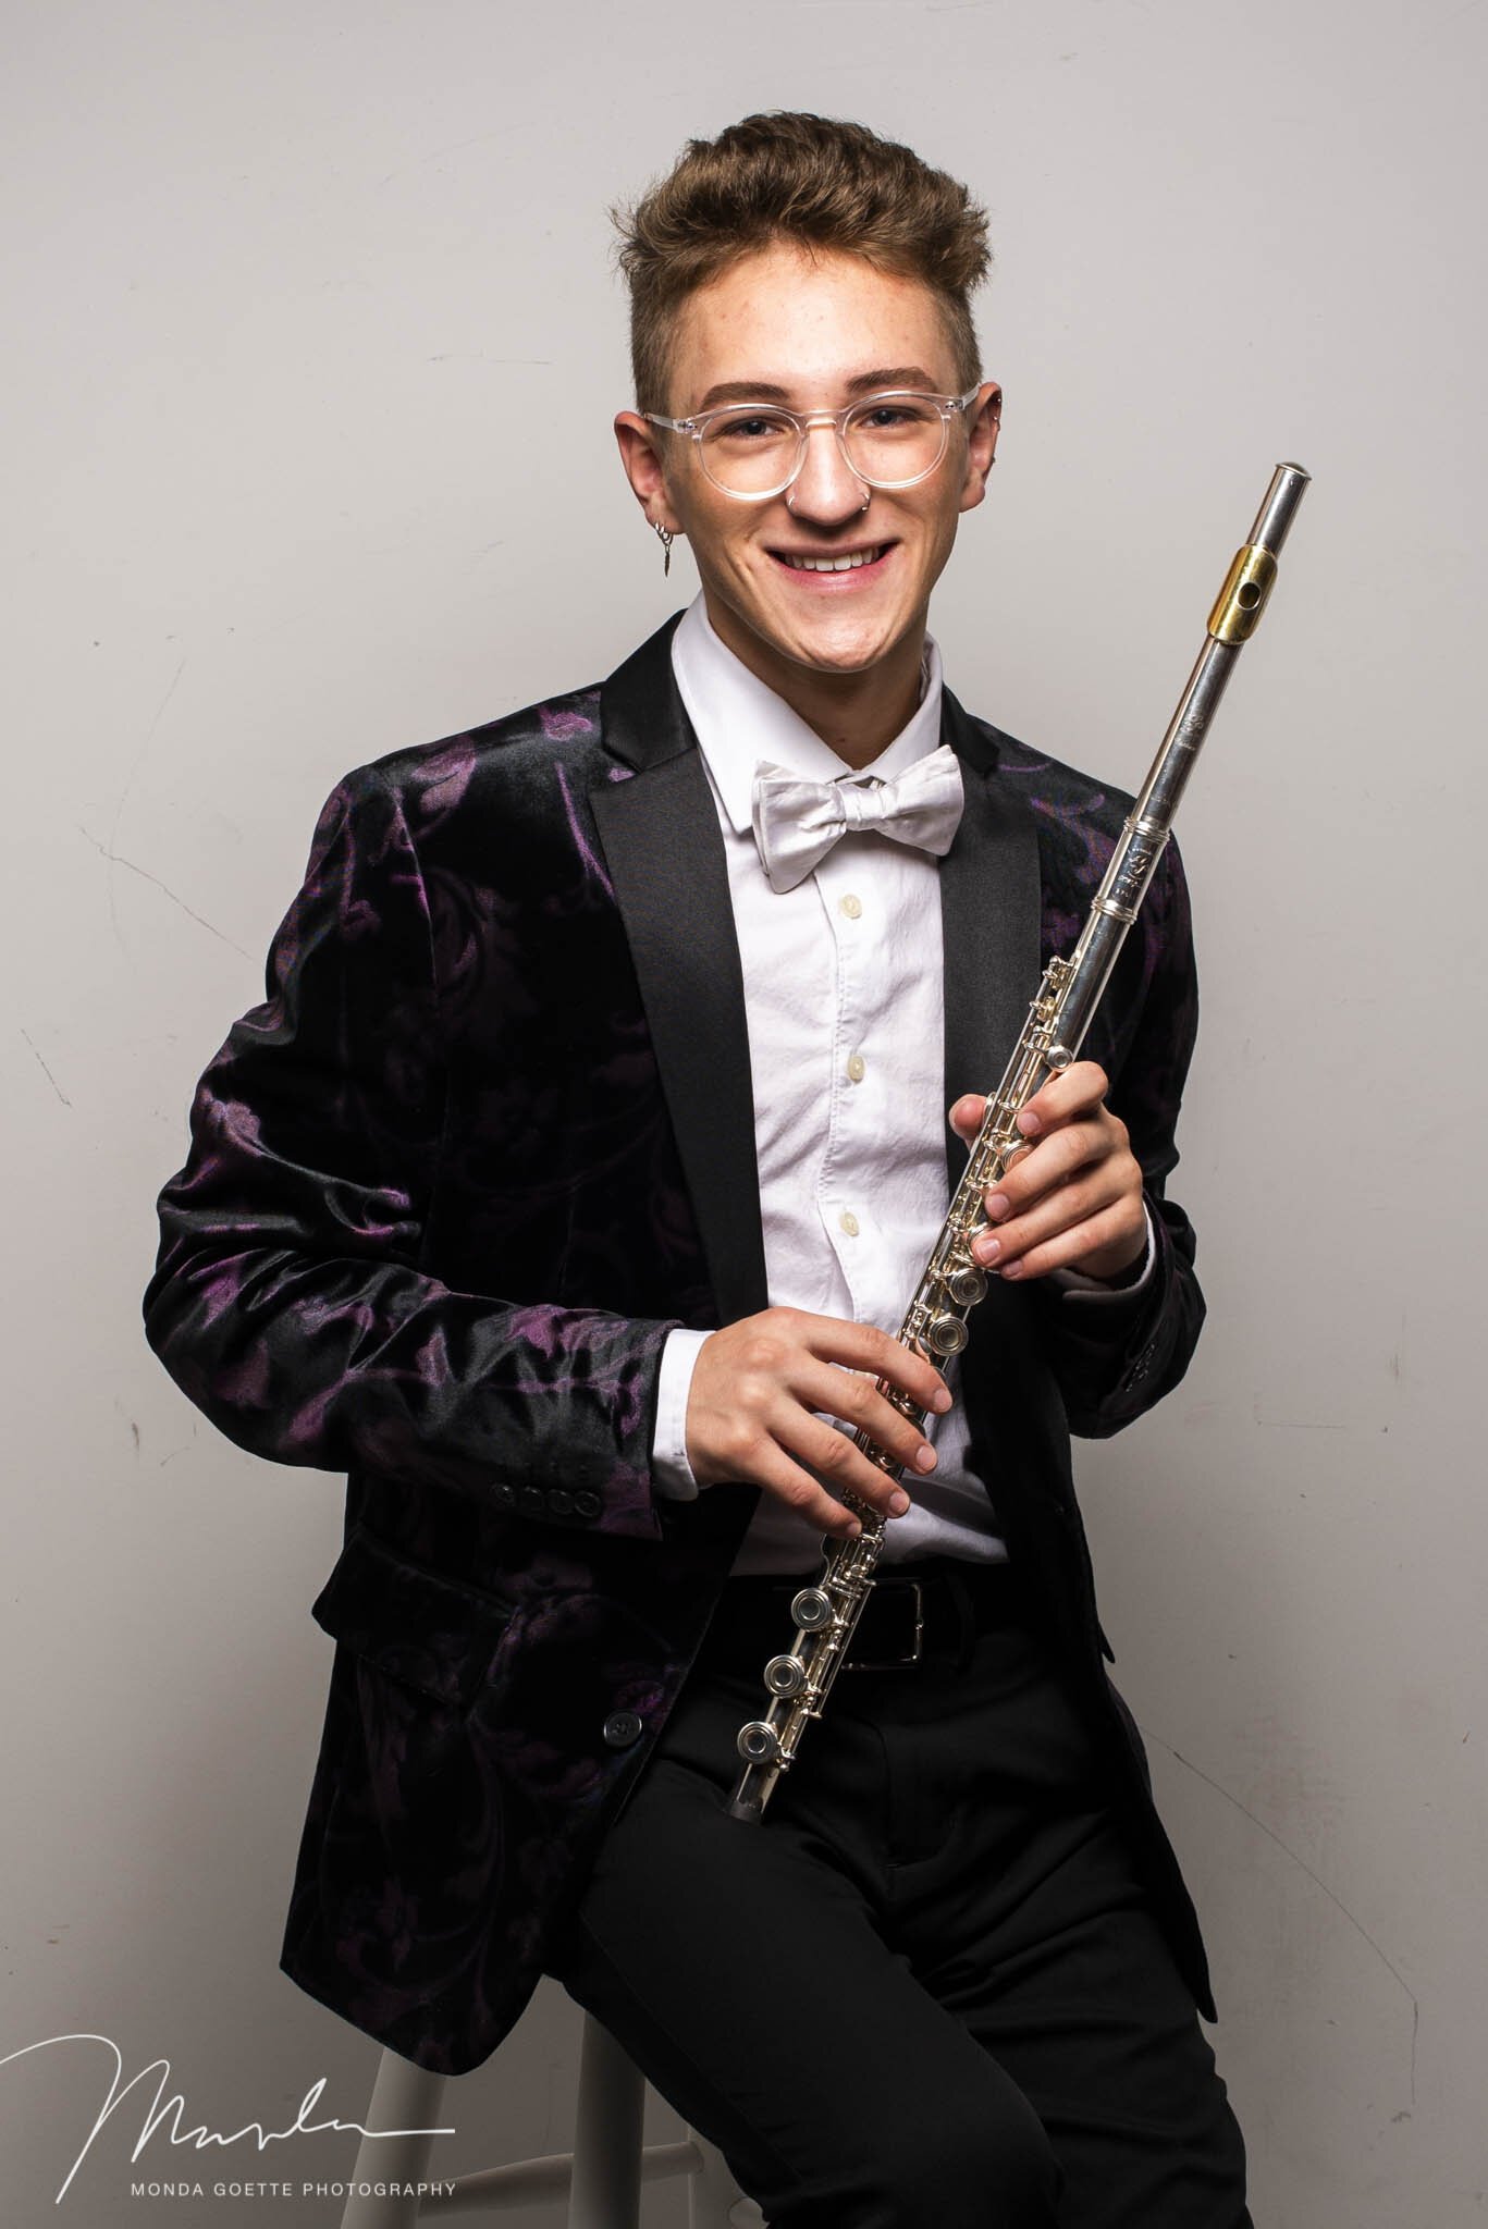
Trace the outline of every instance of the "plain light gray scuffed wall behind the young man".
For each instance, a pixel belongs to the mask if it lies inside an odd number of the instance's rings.
[[[167,2060],[223,2133],[321,2075],[355,2120],[377,2057],[277,1970],[339,1485],[147,1355],[152,1201],[339,773],[692,593],[613,457],[605,203],[772,105],[991,205],[1004,444],[935,613],[977,709],[1131,785],[1272,464],[1314,473],[1182,818],[1211,1322],[1080,1480],[1258,2225],[1484,2218],[1484,62],[1457,0],[4,11],[9,2220],[339,2218],[129,2198],[352,2160],[132,2167],[158,2066],[54,2207],[112,2064],[31,2044]],[[544,1988],[437,2160],[564,2144],[576,2035]]]

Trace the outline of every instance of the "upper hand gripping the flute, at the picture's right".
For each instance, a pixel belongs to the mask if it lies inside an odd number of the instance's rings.
[[[993,1226],[973,1257],[997,1277],[1046,1277],[1078,1268],[1086,1277],[1120,1277],[1147,1250],[1142,1168],[1127,1123],[1107,1101],[1107,1072],[1073,1061],[1051,1077],[1017,1117],[1028,1139],[995,1190],[986,1195]],[[950,1126],[973,1141],[986,1099],[957,1099]],[[995,1248],[988,1259],[988,1248]]]

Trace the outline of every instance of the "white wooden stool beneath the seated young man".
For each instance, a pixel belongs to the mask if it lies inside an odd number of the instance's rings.
[[[444,2075],[384,2051],[368,2129],[428,2129],[439,2118]],[[502,2213],[569,2193],[569,2229],[640,2229],[640,2184],[687,2176],[692,2229],[765,2229],[765,2216],[729,2176],[723,2153],[687,2131],[680,2144],[642,2147],[645,2077],[607,2028],[584,2013],[573,2151],[460,2176],[426,2198],[346,2200],[341,2229],[417,2229],[453,2213]],[[352,2182],[428,2182],[433,2135],[364,2135]]]

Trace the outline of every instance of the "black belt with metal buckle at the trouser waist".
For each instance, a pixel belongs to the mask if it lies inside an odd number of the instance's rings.
[[[703,1643],[709,1661],[781,1656],[794,1625],[790,1605],[817,1574],[729,1578]],[[964,1661],[977,1634],[1017,1616],[1017,1583],[1006,1563],[901,1563],[881,1571],[848,1647],[848,1672],[908,1672],[926,1658]]]

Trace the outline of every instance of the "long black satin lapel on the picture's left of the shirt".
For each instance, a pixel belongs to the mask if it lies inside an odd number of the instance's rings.
[[[667,727],[665,711],[658,727]],[[714,794],[689,742],[629,780],[600,782],[591,805],[727,1324],[767,1302],[765,1239],[727,865]]]

